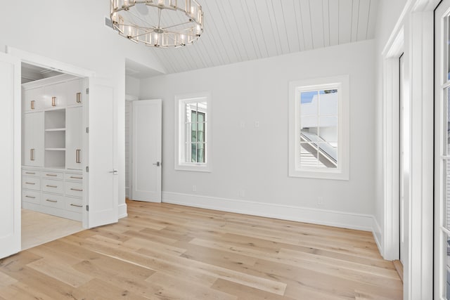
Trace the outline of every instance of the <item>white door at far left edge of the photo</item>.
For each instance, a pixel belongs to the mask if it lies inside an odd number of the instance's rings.
[[[0,259],[20,251],[20,60],[0,53]]]

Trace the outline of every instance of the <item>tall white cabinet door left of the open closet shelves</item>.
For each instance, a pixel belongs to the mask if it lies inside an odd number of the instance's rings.
[[[44,112],[24,115],[24,164],[44,167]]]

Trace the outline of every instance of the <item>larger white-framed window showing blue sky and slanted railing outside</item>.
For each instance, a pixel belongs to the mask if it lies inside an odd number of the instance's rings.
[[[348,76],[290,82],[289,176],[349,178]]]

